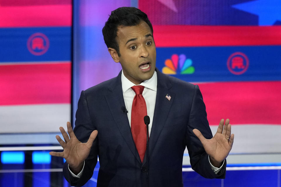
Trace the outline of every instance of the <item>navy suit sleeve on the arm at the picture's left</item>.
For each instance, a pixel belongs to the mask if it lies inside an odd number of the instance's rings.
[[[78,108],[76,111],[76,121],[74,134],[77,139],[82,143],[88,141],[90,134],[93,130],[96,130],[95,126],[92,123],[89,109],[88,101],[84,91],[81,92]],[[93,171],[97,164],[97,155],[98,155],[98,137],[95,138],[90,154],[85,160],[84,170],[80,178],[73,177],[68,170],[68,163],[64,163],[63,174],[65,179],[71,184],[71,186],[83,186],[93,175]]]

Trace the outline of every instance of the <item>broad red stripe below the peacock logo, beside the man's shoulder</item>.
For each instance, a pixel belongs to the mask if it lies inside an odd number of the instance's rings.
[[[281,81],[198,84],[210,125],[281,124]]]

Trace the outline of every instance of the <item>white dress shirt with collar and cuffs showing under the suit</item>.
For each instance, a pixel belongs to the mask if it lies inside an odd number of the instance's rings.
[[[126,107],[126,110],[128,111],[128,113],[127,113],[128,120],[129,120],[129,124],[131,127],[131,111],[132,111],[133,99],[136,95],[136,93],[133,91],[133,89],[131,89],[131,87],[136,86],[136,84],[132,83],[125,77],[123,70],[122,70],[122,74],[121,74],[121,84],[122,84],[122,91],[123,91],[125,107]],[[143,95],[143,98],[146,103],[147,115],[150,117],[150,124],[148,125],[148,135],[150,136],[151,127],[153,124],[153,115],[154,115],[154,109],[155,109],[155,103],[156,103],[156,93],[157,93],[157,73],[156,73],[156,71],[154,72],[153,76],[150,79],[143,81],[139,85],[144,86],[142,95]],[[210,157],[209,157],[209,162],[210,162]],[[224,162],[225,161],[223,161],[223,163]],[[85,161],[84,161],[84,165],[85,165]],[[83,169],[84,169],[84,165],[83,165]],[[213,166],[211,164],[211,162],[210,162],[210,165],[216,174],[222,168],[222,166],[220,168]],[[68,165],[68,169],[69,169],[69,165]],[[77,175],[75,175],[73,172],[71,172],[70,169],[69,169],[69,171],[72,176],[80,177],[83,173],[83,169]]]

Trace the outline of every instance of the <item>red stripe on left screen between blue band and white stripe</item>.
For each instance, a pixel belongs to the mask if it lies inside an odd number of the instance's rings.
[[[71,63],[0,65],[0,105],[71,103]]]

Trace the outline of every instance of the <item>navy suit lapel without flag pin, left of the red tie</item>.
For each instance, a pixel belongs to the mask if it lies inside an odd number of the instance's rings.
[[[116,81],[113,81],[112,84],[109,85],[108,93],[105,95],[105,99],[107,101],[110,112],[114,118],[114,121],[121,135],[125,139],[125,142],[127,143],[133,155],[141,164],[140,156],[138,155],[138,151],[136,149],[133,136],[131,133],[128,116],[127,114],[124,114],[121,109],[122,106],[125,107],[122,85],[121,85],[121,72],[115,79]]]

